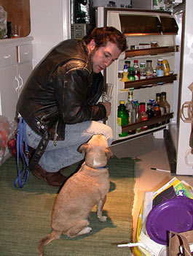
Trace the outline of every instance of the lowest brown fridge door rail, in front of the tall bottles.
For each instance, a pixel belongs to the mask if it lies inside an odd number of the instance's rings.
[[[128,132],[133,129],[149,126],[151,124],[157,124],[161,123],[162,121],[169,120],[170,118],[173,118],[173,113],[168,113],[159,117],[154,117],[145,121],[135,122],[134,124],[127,124],[122,127],[122,132]],[[151,129],[147,129],[146,131],[149,131]]]

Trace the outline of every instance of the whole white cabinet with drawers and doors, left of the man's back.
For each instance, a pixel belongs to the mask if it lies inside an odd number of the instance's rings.
[[[17,99],[32,71],[33,37],[0,40],[0,115],[15,118]]]

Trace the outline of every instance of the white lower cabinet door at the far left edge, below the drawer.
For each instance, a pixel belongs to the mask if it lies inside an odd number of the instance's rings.
[[[17,67],[11,66],[0,70],[0,114],[10,121],[15,118],[18,99],[19,81]]]

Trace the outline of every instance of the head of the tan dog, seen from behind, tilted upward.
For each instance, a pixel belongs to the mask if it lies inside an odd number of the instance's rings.
[[[79,147],[78,151],[85,153],[86,164],[93,168],[105,166],[107,160],[113,157],[106,137],[103,135],[93,135],[87,143]]]

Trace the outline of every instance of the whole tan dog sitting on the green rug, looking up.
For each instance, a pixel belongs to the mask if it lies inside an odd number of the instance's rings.
[[[103,135],[93,135],[88,143],[79,147],[79,152],[85,152],[85,162],[74,176],[68,178],[58,194],[52,211],[53,231],[39,241],[39,256],[44,255],[44,245],[60,238],[62,233],[69,238],[90,233],[88,217],[96,204],[98,219],[106,222],[107,217],[102,216],[110,188],[106,164],[113,155]]]

